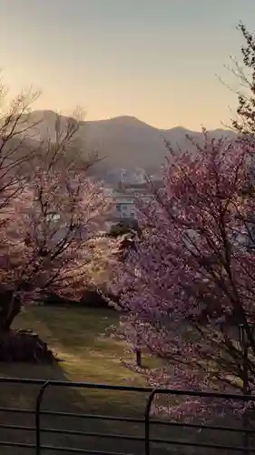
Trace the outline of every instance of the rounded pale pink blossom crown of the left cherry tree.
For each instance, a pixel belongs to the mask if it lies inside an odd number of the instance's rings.
[[[77,180],[72,174],[67,181],[40,175],[8,207],[1,282],[22,292],[23,299],[35,298],[36,291],[41,298],[43,291],[79,298],[87,286],[86,270],[94,261],[91,237],[107,215],[108,200],[100,185]],[[104,260],[111,254],[107,243]],[[11,322],[5,321],[7,327]]]

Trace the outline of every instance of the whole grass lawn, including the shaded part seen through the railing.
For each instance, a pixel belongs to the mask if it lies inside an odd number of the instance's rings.
[[[55,366],[0,364],[0,374],[6,377],[32,379],[61,379],[113,385],[146,386],[142,375],[123,366],[121,358],[127,359],[125,345],[111,339],[105,330],[118,322],[118,314],[109,309],[93,308],[28,308],[15,320],[15,328],[34,329],[44,339],[61,361]],[[155,360],[144,359],[147,367]],[[37,386],[10,384],[1,385],[1,406],[34,410]],[[44,396],[44,410],[83,412],[86,414],[130,416],[143,418],[148,394],[123,391],[49,388]],[[0,423],[34,427],[33,415],[6,414],[0,412]],[[57,419],[44,416],[46,428],[82,430],[101,433],[143,435],[143,425],[93,419]],[[0,440],[34,441],[34,431],[0,430]],[[42,443],[61,447],[90,450],[113,450],[140,453],[143,444],[133,441],[106,440],[93,437],[74,437],[42,433]],[[1,455],[19,455],[24,450],[1,448]],[[33,453],[28,450],[27,453]],[[54,453],[44,450],[44,453]],[[65,452],[68,453],[68,452]],[[158,451],[157,451],[158,453]],[[159,453],[167,453],[165,450]]]

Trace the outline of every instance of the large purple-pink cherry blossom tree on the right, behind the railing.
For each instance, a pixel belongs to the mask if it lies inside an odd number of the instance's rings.
[[[242,390],[240,324],[249,340],[248,390],[255,387],[255,193],[252,144],[209,140],[170,154],[164,187],[140,204],[142,237],[115,269],[112,290],[134,348],[162,358],[154,385]],[[116,305],[116,304],[115,304]],[[183,399],[172,415],[223,412],[236,403]]]

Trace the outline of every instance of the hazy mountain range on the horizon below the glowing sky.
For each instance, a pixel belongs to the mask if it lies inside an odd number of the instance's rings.
[[[61,117],[63,127],[67,118]],[[30,121],[40,122],[36,126],[34,137],[54,138],[54,119],[53,111],[32,112]],[[170,141],[172,147],[178,146],[181,149],[191,147],[186,135],[192,136],[198,141],[201,139],[201,133],[190,131],[182,126],[158,129],[133,116],[82,122],[78,135],[84,154],[96,149],[99,156],[104,158],[98,165],[98,172],[102,173],[104,177],[119,174],[118,169],[120,172],[122,169],[126,169],[128,173],[137,173],[137,169],[145,169],[150,174],[156,172],[162,166],[167,155],[163,138]],[[211,131],[209,135],[217,138],[235,136],[232,131],[223,129]]]

